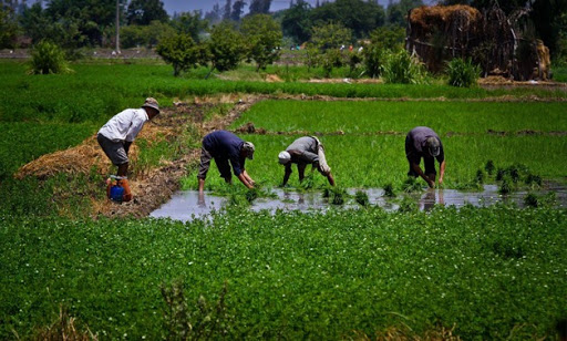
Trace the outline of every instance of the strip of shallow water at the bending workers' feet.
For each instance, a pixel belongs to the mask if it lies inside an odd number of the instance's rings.
[[[331,207],[357,208],[360,207],[353,198],[358,190],[364,192],[370,200],[370,205],[382,207],[385,210],[394,211],[400,208],[401,196],[386,197],[383,189],[349,189],[351,197],[347,198],[344,205],[337,206],[329,204],[323,198],[321,192],[293,192],[280,188],[272,189],[275,195],[271,198],[257,198],[250,205],[250,209],[259,211],[267,209],[269,211],[282,210],[328,210]],[[556,205],[560,208],[567,208],[567,186],[550,185],[545,189],[533,190],[537,196],[544,196],[549,192],[556,194]],[[482,192],[461,192],[455,189],[427,189],[422,193],[405,194],[403,196],[414,200],[421,210],[430,210],[435,205],[462,207],[464,205],[488,206],[496,203],[515,204],[518,207],[525,207],[524,199],[528,192],[519,190],[507,195],[501,195],[496,185],[484,185]],[[196,218],[203,218],[213,210],[219,210],[228,205],[228,198],[205,194],[205,204],[198,204],[197,190],[179,190],[173,195],[172,199],[162,205],[151,214],[154,218],[171,218],[174,220],[190,221]]]

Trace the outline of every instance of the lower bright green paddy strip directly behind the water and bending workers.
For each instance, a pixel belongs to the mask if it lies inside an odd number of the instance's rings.
[[[278,164],[278,153],[293,142],[297,136],[240,135],[256,145],[254,161],[246,162],[248,174],[264,186],[275,187],[284,179],[284,167]],[[474,179],[477,169],[483,169],[488,159],[498,167],[523,164],[534,174],[544,178],[565,177],[565,151],[567,140],[557,136],[452,136],[442,137],[445,147],[445,188],[455,188],[460,184]],[[327,162],[332,168],[337,184],[344,187],[381,188],[388,183],[400,190],[408,174],[408,161],[404,152],[405,136],[324,136],[321,142],[326,148]],[[423,166],[423,165],[422,165]],[[439,170],[439,165],[436,165]],[[311,170],[309,166],[306,174]],[[297,168],[289,185],[299,187]],[[195,170],[196,172],[196,170]],[[185,188],[197,188],[196,173],[185,182]],[[494,182],[489,180],[488,183]],[[234,183],[240,186],[238,179]],[[315,185],[326,186],[327,179],[316,170]],[[425,183],[423,183],[425,186]],[[224,180],[218,177],[216,166],[212,166],[206,186],[218,190]]]

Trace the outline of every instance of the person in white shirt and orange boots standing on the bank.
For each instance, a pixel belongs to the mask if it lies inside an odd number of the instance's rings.
[[[141,108],[126,108],[116,114],[101,127],[96,140],[104,154],[118,167],[118,185],[124,187],[124,202],[132,200],[132,193],[127,180],[128,151],[144,124],[159,114],[159,106],[155,99],[148,97]]]

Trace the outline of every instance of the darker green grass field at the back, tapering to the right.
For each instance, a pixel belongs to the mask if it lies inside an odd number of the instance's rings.
[[[0,61],[1,122],[93,122],[103,124],[124,107],[138,106],[147,96],[162,106],[176,97],[217,93],[306,94],[339,97],[447,97],[482,99],[512,95],[567,97],[563,91],[526,89],[456,89],[447,85],[309,84],[203,80],[205,69],[173,78],[171,66],[144,64],[74,64],[63,75],[25,75],[22,63]],[[193,78],[197,75],[198,78]]]

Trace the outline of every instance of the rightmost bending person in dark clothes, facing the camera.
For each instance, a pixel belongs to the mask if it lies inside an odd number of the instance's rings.
[[[445,153],[443,144],[435,132],[426,126],[417,126],[411,130],[405,136],[405,157],[410,163],[409,176],[421,176],[427,185],[435,187],[435,159],[440,164],[439,184],[443,184],[445,175]],[[425,173],[421,169],[420,163],[423,157]]]

